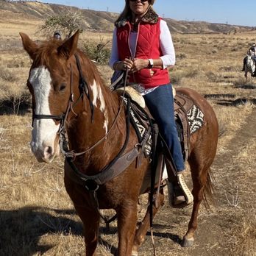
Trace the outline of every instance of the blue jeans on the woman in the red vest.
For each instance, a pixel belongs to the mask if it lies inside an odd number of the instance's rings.
[[[171,155],[174,159],[177,171],[185,170],[182,149],[179,143],[177,127],[174,119],[174,96],[172,85],[160,85],[151,93],[143,96],[146,106],[159,126],[159,130],[165,139]]]

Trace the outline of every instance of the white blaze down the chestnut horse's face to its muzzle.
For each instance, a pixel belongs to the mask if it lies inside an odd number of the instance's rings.
[[[51,74],[43,66],[32,69],[29,77],[35,95],[35,114],[51,115],[49,108],[49,94],[51,90]],[[57,131],[60,124],[56,125],[52,119],[35,119],[32,129],[31,149],[38,161],[51,162],[60,148],[56,142]]]

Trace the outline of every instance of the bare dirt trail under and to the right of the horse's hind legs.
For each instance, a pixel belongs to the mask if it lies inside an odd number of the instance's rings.
[[[212,211],[205,210],[202,205],[199,214],[199,227],[196,231],[195,242],[192,248],[182,248],[179,245],[182,235],[185,234],[191,215],[191,207],[182,210],[171,209],[166,205],[160,209],[154,218],[154,240],[157,255],[234,255],[232,249],[238,239],[232,230],[241,223],[241,215],[248,212],[248,207],[255,211],[256,199],[243,200],[248,196],[248,191],[239,191],[239,182],[246,175],[243,163],[233,163],[241,149],[248,146],[250,141],[256,140],[256,108],[246,118],[246,124],[238,130],[232,141],[227,144],[224,153],[218,153],[213,163],[213,174],[216,177],[216,207]],[[255,193],[255,175],[251,179],[251,187]],[[232,205],[238,189],[240,202],[238,207]],[[228,201],[230,200],[230,202]],[[238,234],[239,235],[239,234]],[[163,250],[164,248],[164,250]],[[152,243],[148,234],[146,242],[140,250],[140,255],[152,255]]]

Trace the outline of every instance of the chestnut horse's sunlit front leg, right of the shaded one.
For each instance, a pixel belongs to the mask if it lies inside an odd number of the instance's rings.
[[[116,210],[118,215],[118,255],[132,255],[137,221],[137,201],[126,200]]]

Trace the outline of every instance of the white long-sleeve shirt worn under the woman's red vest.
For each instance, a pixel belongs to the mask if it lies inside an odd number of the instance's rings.
[[[132,51],[132,55],[135,55],[135,45],[137,40],[137,32],[131,32],[129,43]],[[168,26],[166,24],[166,21],[160,20],[160,48],[163,52],[163,56],[160,56],[160,58],[163,61],[163,68],[168,68],[170,65],[175,64],[175,51],[174,51],[174,44],[172,42],[171,38],[171,32],[168,29]],[[113,64],[117,61],[120,61],[119,55],[118,55],[118,47],[117,47],[117,38],[116,38],[116,28],[113,32],[113,42],[112,42],[112,50],[111,50],[111,56],[109,65],[111,68],[113,68]]]

